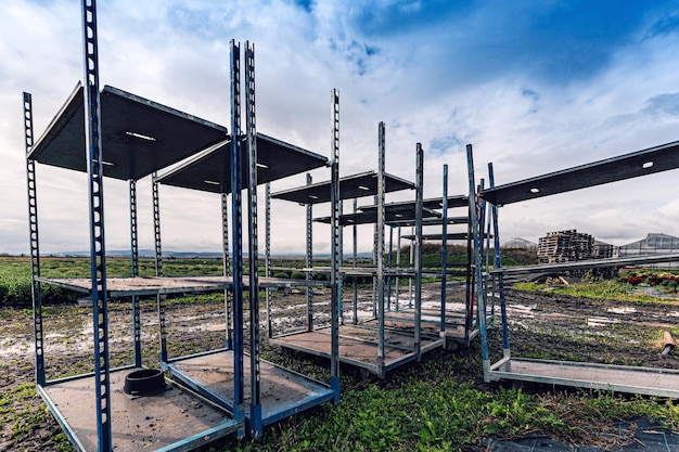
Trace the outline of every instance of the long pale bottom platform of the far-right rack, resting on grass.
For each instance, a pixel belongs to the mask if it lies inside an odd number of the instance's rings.
[[[517,379],[550,385],[679,398],[679,371],[529,359],[502,360],[489,379]]]

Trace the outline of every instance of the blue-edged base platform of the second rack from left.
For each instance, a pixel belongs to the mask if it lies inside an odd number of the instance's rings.
[[[233,350],[219,350],[185,357],[165,363],[172,377],[188,385],[213,402],[233,410]],[[249,358],[244,359],[245,421],[251,426],[266,426],[308,408],[335,398],[328,385],[278,366],[259,361],[261,418],[251,417]]]

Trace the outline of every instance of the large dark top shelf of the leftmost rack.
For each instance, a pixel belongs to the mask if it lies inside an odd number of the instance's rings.
[[[27,158],[87,171],[85,92],[78,83]],[[101,91],[104,176],[138,180],[225,139],[223,126],[113,87]]]

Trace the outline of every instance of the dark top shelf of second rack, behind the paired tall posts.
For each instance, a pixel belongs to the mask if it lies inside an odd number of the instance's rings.
[[[243,138],[243,142],[245,139]],[[257,133],[257,183],[271,182],[329,165],[326,157]],[[242,162],[247,162],[247,148],[241,146]],[[249,169],[243,166],[242,178],[247,181]],[[231,139],[182,163],[162,175],[158,182],[166,185],[201,190],[213,193],[231,193]]]

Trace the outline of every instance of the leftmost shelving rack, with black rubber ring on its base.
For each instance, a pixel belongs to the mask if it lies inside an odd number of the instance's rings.
[[[28,182],[28,212],[31,263],[31,292],[34,302],[34,335],[36,352],[36,383],[37,391],[64,429],[67,438],[79,451],[136,451],[144,448],[149,437],[155,437],[153,431],[163,431],[157,437],[154,448],[163,451],[191,450],[216,438],[229,435],[239,427],[238,422],[229,418],[228,413],[217,406],[206,403],[205,399],[187,392],[171,385],[165,391],[153,398],[128,397],[123,393],[125,376],[129,371],[142,367],[141,360],[141,320],[137,295],[142,293],[158,293],[163,283],[156,283],[153,288],[141,293],[123,287],[118,296],[131,298],[132,311],[132,344],[133,362],[121,367],[111,369],[108,361],[108,310],[107,300],[116,287],[125,283],[110,284],[106,277],[106,253],[104,234],[104,177],[113,176],[127,179],[130,196],[130,272],[131,277],[123,279],[126,282],[139,281],[138,224],[137,224],[137,179],[144,176],[144,171],[153,165],[174,163],[189,155],[192,150],[175,150],[171,155],[161,156],[157,162],[143,162],[136,166],[125,160],[126,153],[120,153],[117,146],[111,156],[104,159],[103,147],[110,144],[112,133],[118,125],[117,119],[111,119],[112,112],[117,106],[140,111],[153,111],[159,115],[169,115],[171,120],[183,121],[187,127],[196,127],[213,130],[218,134],[219,127],[207,121],[181,114],[151,101],[142,100],[111,87],[100,91],[99,85],[99,54],[97,31],[97,7],[94,0],[82,1],[82,37],[85,87],[78,86],[64,107],[49,125],[39,140],[34,142],[33,100],[29,93],[24,93],[24,129],[26,147],[26,169]],[[102,128],[102,105],[105,94],[107,127]],[[82,118],[82,119],[79,119]],[[153,120],[153,119],[151,119]],[[177,122],[176,122],[177,124]],[[126,140],[137,140],[130,129],[124,133]],[[131,129],[133,130],[133,129]],[[195,130],[195,129],[193,129]],[[84,140],[79,135],[84,133]],[[144,140],[150,137],[144,135]],[[72,142],[69,142],[69,140]],[[149,140],[150,141],[150,140]],[[85,154],[78,151],[85,143]],[[148,143],[146,143],[148,144]],[[202,144],[201,144],[202,145]],[[114,146],[116,147],[116,146]],[[179,151],[179,152],[176,152]],[[112,164],[115,162],[114,164]],[[40,275],[40,253],[38,232],[38,201],[36,164],[42,163],[72,170],[87,170],[89,186],[89,229],[90,229],[90,279],[82,280],[51,280]],[[146,172],[148,173],[148,172]],[[59,379],[48,379],[44,371],[44,331],[42,324],[41,284],[75,289],[91,296],[93,319],[93,364],[94,371],[88,374],[74,375]],[[191,282],[193,284],[193,282]],[[113,289],[112,289],[113,286]],[[91,399],[81,396],[91,392]],[[201,402],[196,403],[196,399]],[[158,422],[153,428],[144,425],[144,418],[151,414],[163,414],[164,422]],[[167,423],[167,424],[166,424]],[[148,423],[146,423],[148,424]],[[177,424],[169,430],[168,424]],[[130,426],[136,425],[136,430]],[[171,431],[170,431],[171,430]]]

